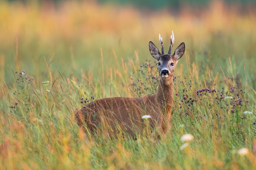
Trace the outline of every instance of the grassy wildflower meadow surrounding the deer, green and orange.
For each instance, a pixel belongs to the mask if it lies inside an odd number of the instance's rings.
[[[95,2],[0,5],[0,169],[254,169],[256,18],[214,1],[140,11]],[[171,30],[175,68],[165,137],[92,138],[76,124],[81,97],[155,93],[148,49]],[[47,82],[49,81],[49,82]],[[185,134],[193,140],[183,141]]]

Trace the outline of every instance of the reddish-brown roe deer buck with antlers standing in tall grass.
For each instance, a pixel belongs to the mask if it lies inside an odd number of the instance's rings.
[[[79,126],[85,126],[91,133],[103,132],[108,135],[112,133],[115,137],[119,133],[127,133],[136,139],[136,134],[141,132],[141,127],[145,123],[141,116],[150,115],[150,131],[159,133],[157,135],[166,132],[172,121],[174,68],[184,54],[185,44],[182,42],[171,55],[174,43],[173,31],[168,54],[164,54],[160,34],[159,41],[162,54],[153,42],[149,42],[149,51],[157,60],[160,76],[157,92],[144,97],[112,97],[90,102],[76,111],[76,121]]]

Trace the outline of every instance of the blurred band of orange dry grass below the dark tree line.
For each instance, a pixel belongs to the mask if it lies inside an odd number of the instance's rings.
[[[239,15],[236,8],[227,8],[220,1],[213,1],[201,11],[185,8],[179,13],[168,9],[140,12],[131,7],[100,6],[94,2],[66,2],[57,9],[51,4],[25,7],[3,3],[0,14],[0,38],[9,43],[13,43],[17,36],[36,37],[43,42],[77,37],[90,44],[90,40],[101,41],[101,36],[136,42],[142,38],[156,39],[159,32],[166,37],[173,29],[179,37],[177,41],[190,36],[195,44],[204,44],[212,32],[252,33],[252,23],[256,22],[252,11]]]

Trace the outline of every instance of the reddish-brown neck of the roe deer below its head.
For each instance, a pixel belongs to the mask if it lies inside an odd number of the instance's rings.
[[[171,113],[171,107],[173,104],[173,77],[168,79],[161,78],[159,80],[158,91],[156,94],[157,102],[168,113]]]

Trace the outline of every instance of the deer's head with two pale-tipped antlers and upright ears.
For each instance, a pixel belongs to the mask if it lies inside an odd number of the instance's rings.
[[[185,44],[182,42],[177,49],[175,49],[175,52],[173,55],[171,55],[171,50],[173,47],[174,43],[174,35],[172,31],[171,35],[171,46],[169,48],[168,54],[164,54],[164,46],[163,46],[163,41],[162,38],[159,34],[159,41],[161,44],[161,49],[162,49],[162,54],[159,52],[157,47],[153,42],[149,42],[149,51],[152,55],[152,57],[157,60],[157,68],[159,71],[159,76],[162,77],[162,79],[173,79],[173,73],[174,73],[174,68],[178,62],[178,60],[182,57],[185,51]]]

